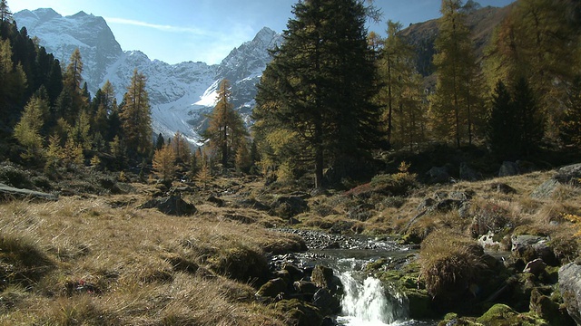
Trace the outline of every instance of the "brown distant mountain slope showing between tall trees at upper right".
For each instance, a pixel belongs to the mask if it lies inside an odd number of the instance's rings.
[[[487,6],[468,13],[468,27],[472,31],[478,57],[482,57],[495,27],[510,13],[514,5],[515,3],[502,8]],[[438,19],[411,24],[401,34],[416,48],[419,73],[423,76],[431,75],[434,72],[432,60],[436,53],[434,41],[438,36]]]

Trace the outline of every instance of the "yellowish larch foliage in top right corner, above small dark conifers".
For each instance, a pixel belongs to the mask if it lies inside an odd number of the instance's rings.
[[[576,1],[519,0],[487,49],[488,83],[527,79],[551,137],[564,109],[558,103],[566,102],[567,87],[578,73],[578,8]]]

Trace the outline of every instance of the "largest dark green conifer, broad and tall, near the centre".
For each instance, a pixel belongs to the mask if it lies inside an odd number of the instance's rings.
[[[363,1],[300,1],[259,84],[253,116],[262,158],[311,169],[315,187],[324,168],[345,176],[383,140],[367,13]]]

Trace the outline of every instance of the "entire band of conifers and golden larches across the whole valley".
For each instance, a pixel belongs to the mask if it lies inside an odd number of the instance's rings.
[[[369,33],[378,11],[363,0],[300,0],[257,85],[249,133],[228,81],[193,150],[182,134],[153,141],[146,79],[135,71],[123,101],[105,82],[94,98],[81,53],[60,62],[12,22],[0,2],[0,132],[3,158],[123,169],[153,161],[162,178],[187,169],[210,176],[236,168],[279,180],[314,176],[315,187],[374,173],[374,155],[418,151],[432,142],[480,146],[497,161],[542,148],[581,145],[581,6],[520,0],[478,56],[468,14],[475,3],[442,0],[434,44],[435,86],[417,51],[389,21]]]

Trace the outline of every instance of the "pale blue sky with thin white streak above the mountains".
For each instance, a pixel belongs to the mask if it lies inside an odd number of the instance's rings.
[[[481,5],[504,6],[514,0],[480,0]],[[219,63],[262,27],[281,33],[297,0],[8,0],[13,13],[53,8],[62,15],[103,16],[123,50],[140,50],[150,59],[177,63]],[[375,0],[388,19],[404,26],[439,16],[438,0]]]

